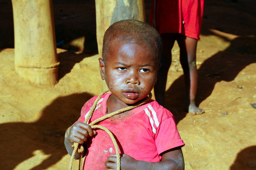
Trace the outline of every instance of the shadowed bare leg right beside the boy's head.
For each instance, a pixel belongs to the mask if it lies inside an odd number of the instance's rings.
[[[163,39],[163,54],[161,68],[159,69],[157,81],[154,87],[155,100],[160,104],[165,104],[165,88],[168,70],[172,63],[172,48],[174,46],[174,34],[161,34]]]

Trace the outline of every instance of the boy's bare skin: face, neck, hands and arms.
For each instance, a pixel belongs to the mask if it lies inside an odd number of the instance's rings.
[[[107,114],[143,100],[155,85],[159,63],[155,62],[156,56],[144,46],[113,41],[105,62],[103,59],[99,61],[101,78],[106,80],[112,93],[107,102]],[[73,142],[84,144],[94,135],[96,131],[85,123],[75,123],[69,127],[65,134],[68,153],[73,152]],[[76,153],[75,158],[81,154]],[[160,162],[147,162],[122,154],[121,170],[184,170],[181,148],[168,150],[161,156]],[[116,155],[110,155],[105,161],[105,170],[116,170],[116,160]]]

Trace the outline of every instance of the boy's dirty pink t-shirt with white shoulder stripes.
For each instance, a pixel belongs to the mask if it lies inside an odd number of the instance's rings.
[[[110,95],[111,93],[102,95],[88,124],[107,113],[107,100]],[[78,121],[85,121],[96,98],[94,96],[84,104]],[[184,145],[172,113],[154,100],[127,113],[105,119],[98,125],[113,133],[120,153],[140,161],[161,161],[160,153]],[[101,129],[96,131],[97,135],[87,143],[88,150],[84,161],[84,169],[87,170],[103,170],[108,156],[116,153],[110,136]]]

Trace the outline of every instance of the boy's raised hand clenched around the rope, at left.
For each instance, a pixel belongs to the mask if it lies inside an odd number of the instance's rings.
[[[96,135],[96,131],[93,130],[90,125],[82,122],[73,124],[66,131],[66,138],[78,144],[83,144],[93,135]]]

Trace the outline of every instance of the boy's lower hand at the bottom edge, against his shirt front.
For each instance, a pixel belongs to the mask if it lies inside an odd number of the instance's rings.
[[[121,170],[136,170],[137,160],[127,154],[121,155]],[[104,170],[117,170],[117,155],[111,154],[105,161]]]

